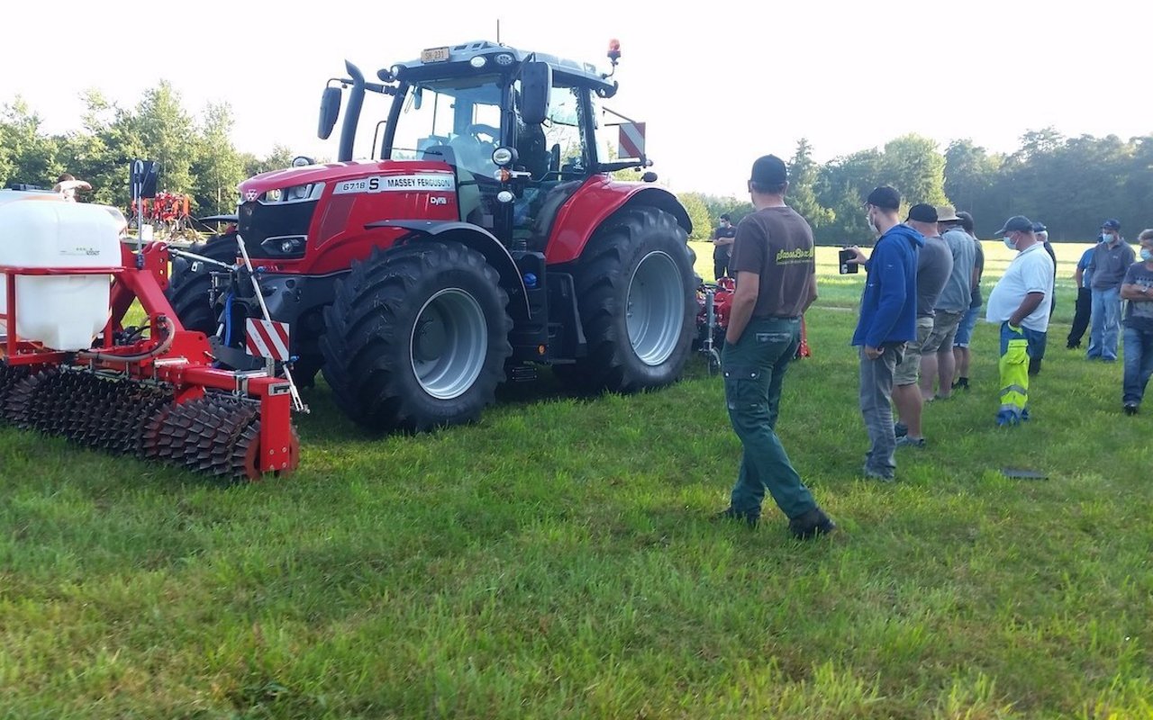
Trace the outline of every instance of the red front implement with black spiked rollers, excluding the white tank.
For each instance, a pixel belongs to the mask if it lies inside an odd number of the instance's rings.
[[[13,267],[0,348],[0,417],[88,446],[161,458],[223,478],[287,472],[300,461],[288,381],[212,366],[208,339],[186,331],[164,296],[168,251],[122,248],[114,267]],[[22,340],[17,286],[36,276],[111,275],[111,317],[91,349]],[[142,326],[125,325],[138,301]]]

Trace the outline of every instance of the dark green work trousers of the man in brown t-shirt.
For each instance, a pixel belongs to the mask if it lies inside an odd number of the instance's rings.
[[[799,319],[753,318],[721,354],[729,419],[744,447],[731,506],[744,515],[760,516],[766,490],[790,520],[816,507],[776,433],[781,387],[799,344]]]

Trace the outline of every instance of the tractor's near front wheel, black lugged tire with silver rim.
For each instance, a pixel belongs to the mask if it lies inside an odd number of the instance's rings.
[[[455,242],[374,250],[324,310],[324,378],[374,432],[474,422],[512,355],[507,294],[484,257]]]

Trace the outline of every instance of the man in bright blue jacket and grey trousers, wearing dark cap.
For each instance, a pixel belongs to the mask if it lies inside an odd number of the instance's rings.
[[[917,253],[925,237],[897,221],[900,195],[889,187],[869,194],[865,204],[869,228],[880,235],[873,257],[859,248],[857,263],[868,278],[861,294],[861,317],[853,333],[860,348],[860,407],[872,447],[865,458],[865,477],[892,482],[897,469],[892,427],[892,372],[902,361],[905,343],[917,340]]]

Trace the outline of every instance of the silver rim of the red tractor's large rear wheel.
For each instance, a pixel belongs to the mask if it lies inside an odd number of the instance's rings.
[[[668,252],[649,252],[641,259],[628,281],[626,302],[628,342],[636,357],[649,366],[669,359],[685,325],[685,301],[680,268]]]

